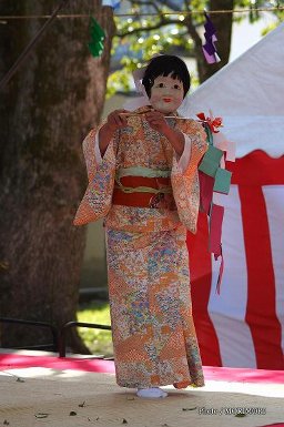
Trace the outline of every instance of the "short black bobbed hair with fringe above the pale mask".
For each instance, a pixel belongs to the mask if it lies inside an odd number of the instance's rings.
[[[151,89],[154,80],[159,75],[166,77],[170,74],[173,79],[178,78],[183,83],[184,96],[186,95],[191,87],[191,75],[185,62],[179,57],[162,54],[153,58],[149,62],[142,80],[142,84],[144,85],[149,98],[151,98]]]

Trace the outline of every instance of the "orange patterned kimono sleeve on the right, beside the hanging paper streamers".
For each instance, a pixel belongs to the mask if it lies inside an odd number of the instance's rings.
[[[194,120],[184,121],[180,130],[191,140],[191,157],[185,170],[173,157],[171,183],[180,221],[189,231],[196,233],[200,205],[197,166],[207,150],[206,133]]]

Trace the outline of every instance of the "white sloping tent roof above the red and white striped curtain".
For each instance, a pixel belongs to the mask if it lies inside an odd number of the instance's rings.
[[[180,113],[222,116],[236,157],[284,153],[284,23],[186,96]]]

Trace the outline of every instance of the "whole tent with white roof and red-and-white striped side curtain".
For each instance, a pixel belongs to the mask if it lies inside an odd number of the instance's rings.
[[[209,365],[283,369],[284,23],[197,88],[181,114],[210,110],[223,118],[237,159],[229,195],[214,193],[225,206],[221,295],[205,227],[189,246],[202,357]]]

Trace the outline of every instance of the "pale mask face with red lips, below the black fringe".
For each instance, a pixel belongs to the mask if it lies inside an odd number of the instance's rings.
[[[183,83],[170,75],[159,75],[151,88],[151,105],[161,113],[173,113],[182,103]]]

